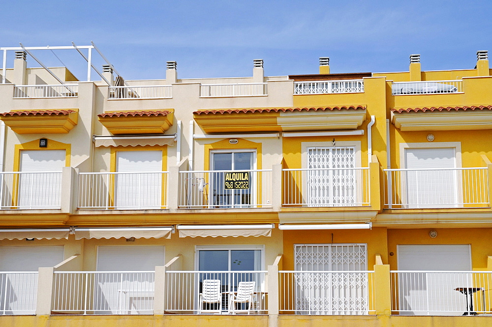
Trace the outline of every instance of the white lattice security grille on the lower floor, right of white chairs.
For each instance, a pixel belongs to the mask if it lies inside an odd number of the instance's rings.
[[[366,244],[295,245],[296,313],[361,315],[369,310]]]

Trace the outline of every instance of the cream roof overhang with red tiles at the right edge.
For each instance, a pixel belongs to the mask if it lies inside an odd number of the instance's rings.
[[[393,108],[391,121],[401,131],[492,129],[492,105]]]

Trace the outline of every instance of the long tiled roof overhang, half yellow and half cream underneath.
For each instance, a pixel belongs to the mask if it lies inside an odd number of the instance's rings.
[[[199,110],[193,115],[206,133],[341,130],[362,125],[366,106],[235,108]]]

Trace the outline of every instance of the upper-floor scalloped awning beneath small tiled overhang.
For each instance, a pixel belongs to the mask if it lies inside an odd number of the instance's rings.
[[[137,147],[173,145],[176,135],[94,135],[95,147]]]

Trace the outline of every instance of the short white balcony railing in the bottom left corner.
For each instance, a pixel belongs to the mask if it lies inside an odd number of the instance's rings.
[[[0,272],[0,315],[34,315],[37,271]]]

